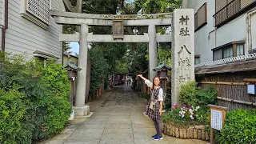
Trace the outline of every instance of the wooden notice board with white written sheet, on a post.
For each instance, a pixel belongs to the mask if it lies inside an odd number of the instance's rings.
[[[210,144],[214,143],[214,129],[222,130],[224,126],[224,121],[226,118],[227,107],[223,106],[210,106]],[[214,113],[212,113],[214,112]]]

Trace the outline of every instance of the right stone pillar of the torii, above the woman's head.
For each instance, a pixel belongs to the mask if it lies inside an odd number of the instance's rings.
[[[153,69],[158,66],[158,50],[157,50],[157,40],[156,40],[156,29],[154,25],[150,25],[148,28],[149,33],[149,58],[150,58],[150,82],[153,82],[153,78],[157,76],[157,72]]]

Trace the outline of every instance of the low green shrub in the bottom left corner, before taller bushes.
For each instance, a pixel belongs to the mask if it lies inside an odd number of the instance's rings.
[[[31,143],[31,126],[27,124],[26,95],[16,90],[0,90],[0,143]]]

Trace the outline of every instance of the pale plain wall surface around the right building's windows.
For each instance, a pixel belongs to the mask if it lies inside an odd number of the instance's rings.
[[[199,29],[195,34],[195,55],[200,54],[200,62],[213,61],[214,47],[222,46],[229,42],[245,41],[246,42],[246,14],[242,14],[231,22],[216,30],[216,46],[214,46],[214,17],[215,0],[183,0],[182,8],[194,9],[196,13],[198,9],[207,2],[207,24]],[[256,14],[252,16],[252,39],[253,46],[256,48]],[[247,43],[245,44],[245,54],[248,54]]]

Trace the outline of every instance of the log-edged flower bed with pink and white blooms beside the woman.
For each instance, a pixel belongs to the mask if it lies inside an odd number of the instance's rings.
[[[181,86],[181,104],[172,106],[162,115],[163,133],[176,138],[195,138],[209,140],[210,110],[217,92],[213,87],[197,87],[196,82]]]

